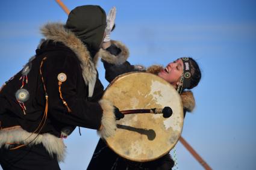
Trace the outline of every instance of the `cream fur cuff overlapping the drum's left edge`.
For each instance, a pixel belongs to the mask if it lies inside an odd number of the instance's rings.
[[[114,116],[114,107],[108,100],[100,100],[99,104],[103,110],[101,118],[102,128],[98,130],[98,135],[102,139],[113,136],[116,131],[116,117]]]

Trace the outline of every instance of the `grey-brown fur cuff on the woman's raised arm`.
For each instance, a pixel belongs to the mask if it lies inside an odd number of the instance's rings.
[[[119,55],[112,55],[107,50],[100,49],[99,52],[96,54],[96,58],[101,57],[110,64],[123,64],[123,62],[125,62],[126,59],[129,57],[129,50],[120,41],[111,40],[111,44],[114,44],[117,48],[121,50]]]

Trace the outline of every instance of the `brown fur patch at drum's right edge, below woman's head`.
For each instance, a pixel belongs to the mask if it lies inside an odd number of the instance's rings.
[[[181,100],[183,102],[183,108],[192,112],[195,108],[195,99],[192,91],[183,91],[183,93],[181,93]]]

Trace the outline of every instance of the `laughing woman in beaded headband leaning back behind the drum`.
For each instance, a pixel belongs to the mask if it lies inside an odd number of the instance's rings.
[[[108,82],[111,82],[120,74],[132,71],[145,71],[147,73],[156,74],[172,84],[178,93],[180,93],[183,102],[184,117],[187,111],[193,111],[195,107],[193,93],[185,89],[196,87],[201,79],[201,71],[194,59],[179,58],[176,59],[176,61],[170,62],[165,68],[161,65],[152,65],[149,68],[145,68],[142,65],[131,65],[130,62],[126,61],[128,55],[122,54],[129,53],[129,51],[122,43],[114,40],[108,41],[107,43],[107,50],[101,49],[97,55],[102,58],[105,67],[105,79],[107,79]],[[170,157],[170,154],[165,154],[156,160],[143,163],[126,160],[114,153],[114,151],[107,146],[104,139],[99,139],[87,170],[170,170],[173,166],[174,161]]]

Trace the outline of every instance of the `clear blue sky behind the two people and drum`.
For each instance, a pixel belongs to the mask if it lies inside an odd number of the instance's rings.
[[[166,65],[191,56],[202,70],[193,90],[196,109],[187,114],[182,136],[213,169],[256,169],[256,1],[68,1],[97,4],[108,12],[116,6],[111,38],[130,49],[133,64]],[[65,22],[66,14],[53,0],[0,1],[0,83],[34,55],[39,28]],[[99,64],[104,86],[104,68]],[[86,169],[98,141],[95,130],[78,129],[64,142],[61,169]],[[203,169],[178,142],[179,169]]]

